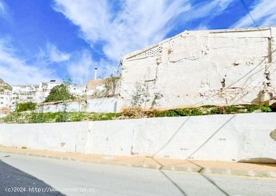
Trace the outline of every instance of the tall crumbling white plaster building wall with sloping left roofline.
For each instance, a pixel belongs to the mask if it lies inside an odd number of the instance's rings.
[[[275,96],[276,28],[185,31],[122,61],[121,108],[135,83],[162,94],[162,109],[260,104]],[[148,108],[151,103],[148,103]]]

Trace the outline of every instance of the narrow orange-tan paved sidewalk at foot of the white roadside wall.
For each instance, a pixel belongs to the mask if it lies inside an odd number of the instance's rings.
[[[0,152],[39,156],[62,160],[74,160],[100,164],[116,164],[130,167],[192,171],[200,173],[219,173],[258,177],[276,177],[276,164],[239,163],[226,161],[179,160],[141,156],[107,156],[100,154],[80,154],[48,150],[32,150],[0,147]]]

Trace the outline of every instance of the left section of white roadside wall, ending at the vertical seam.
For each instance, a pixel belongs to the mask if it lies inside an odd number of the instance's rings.
[[[84,152],[88,122],[0,124],[0,145]]]

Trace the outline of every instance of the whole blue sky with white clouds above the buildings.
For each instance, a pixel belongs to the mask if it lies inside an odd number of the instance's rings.
[[[258,27],[275,0],[243,0]],[[0,0],[0,78],[11,85],[107,77],[120,59],[185,30],[256,27],[241,0]]]

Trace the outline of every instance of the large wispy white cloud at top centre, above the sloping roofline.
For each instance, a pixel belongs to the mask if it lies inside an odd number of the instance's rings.
[[[102,43],[105,56],[117,62],[120,55],[163,40],[180,22],[215,15],[233,1],[193,6],[189,0],[125,0],[118,9],[107,0],[55,0],[54,9],[80,27],[81,37],[92,48]],[[116,9],[119,11],[114,12]]]

